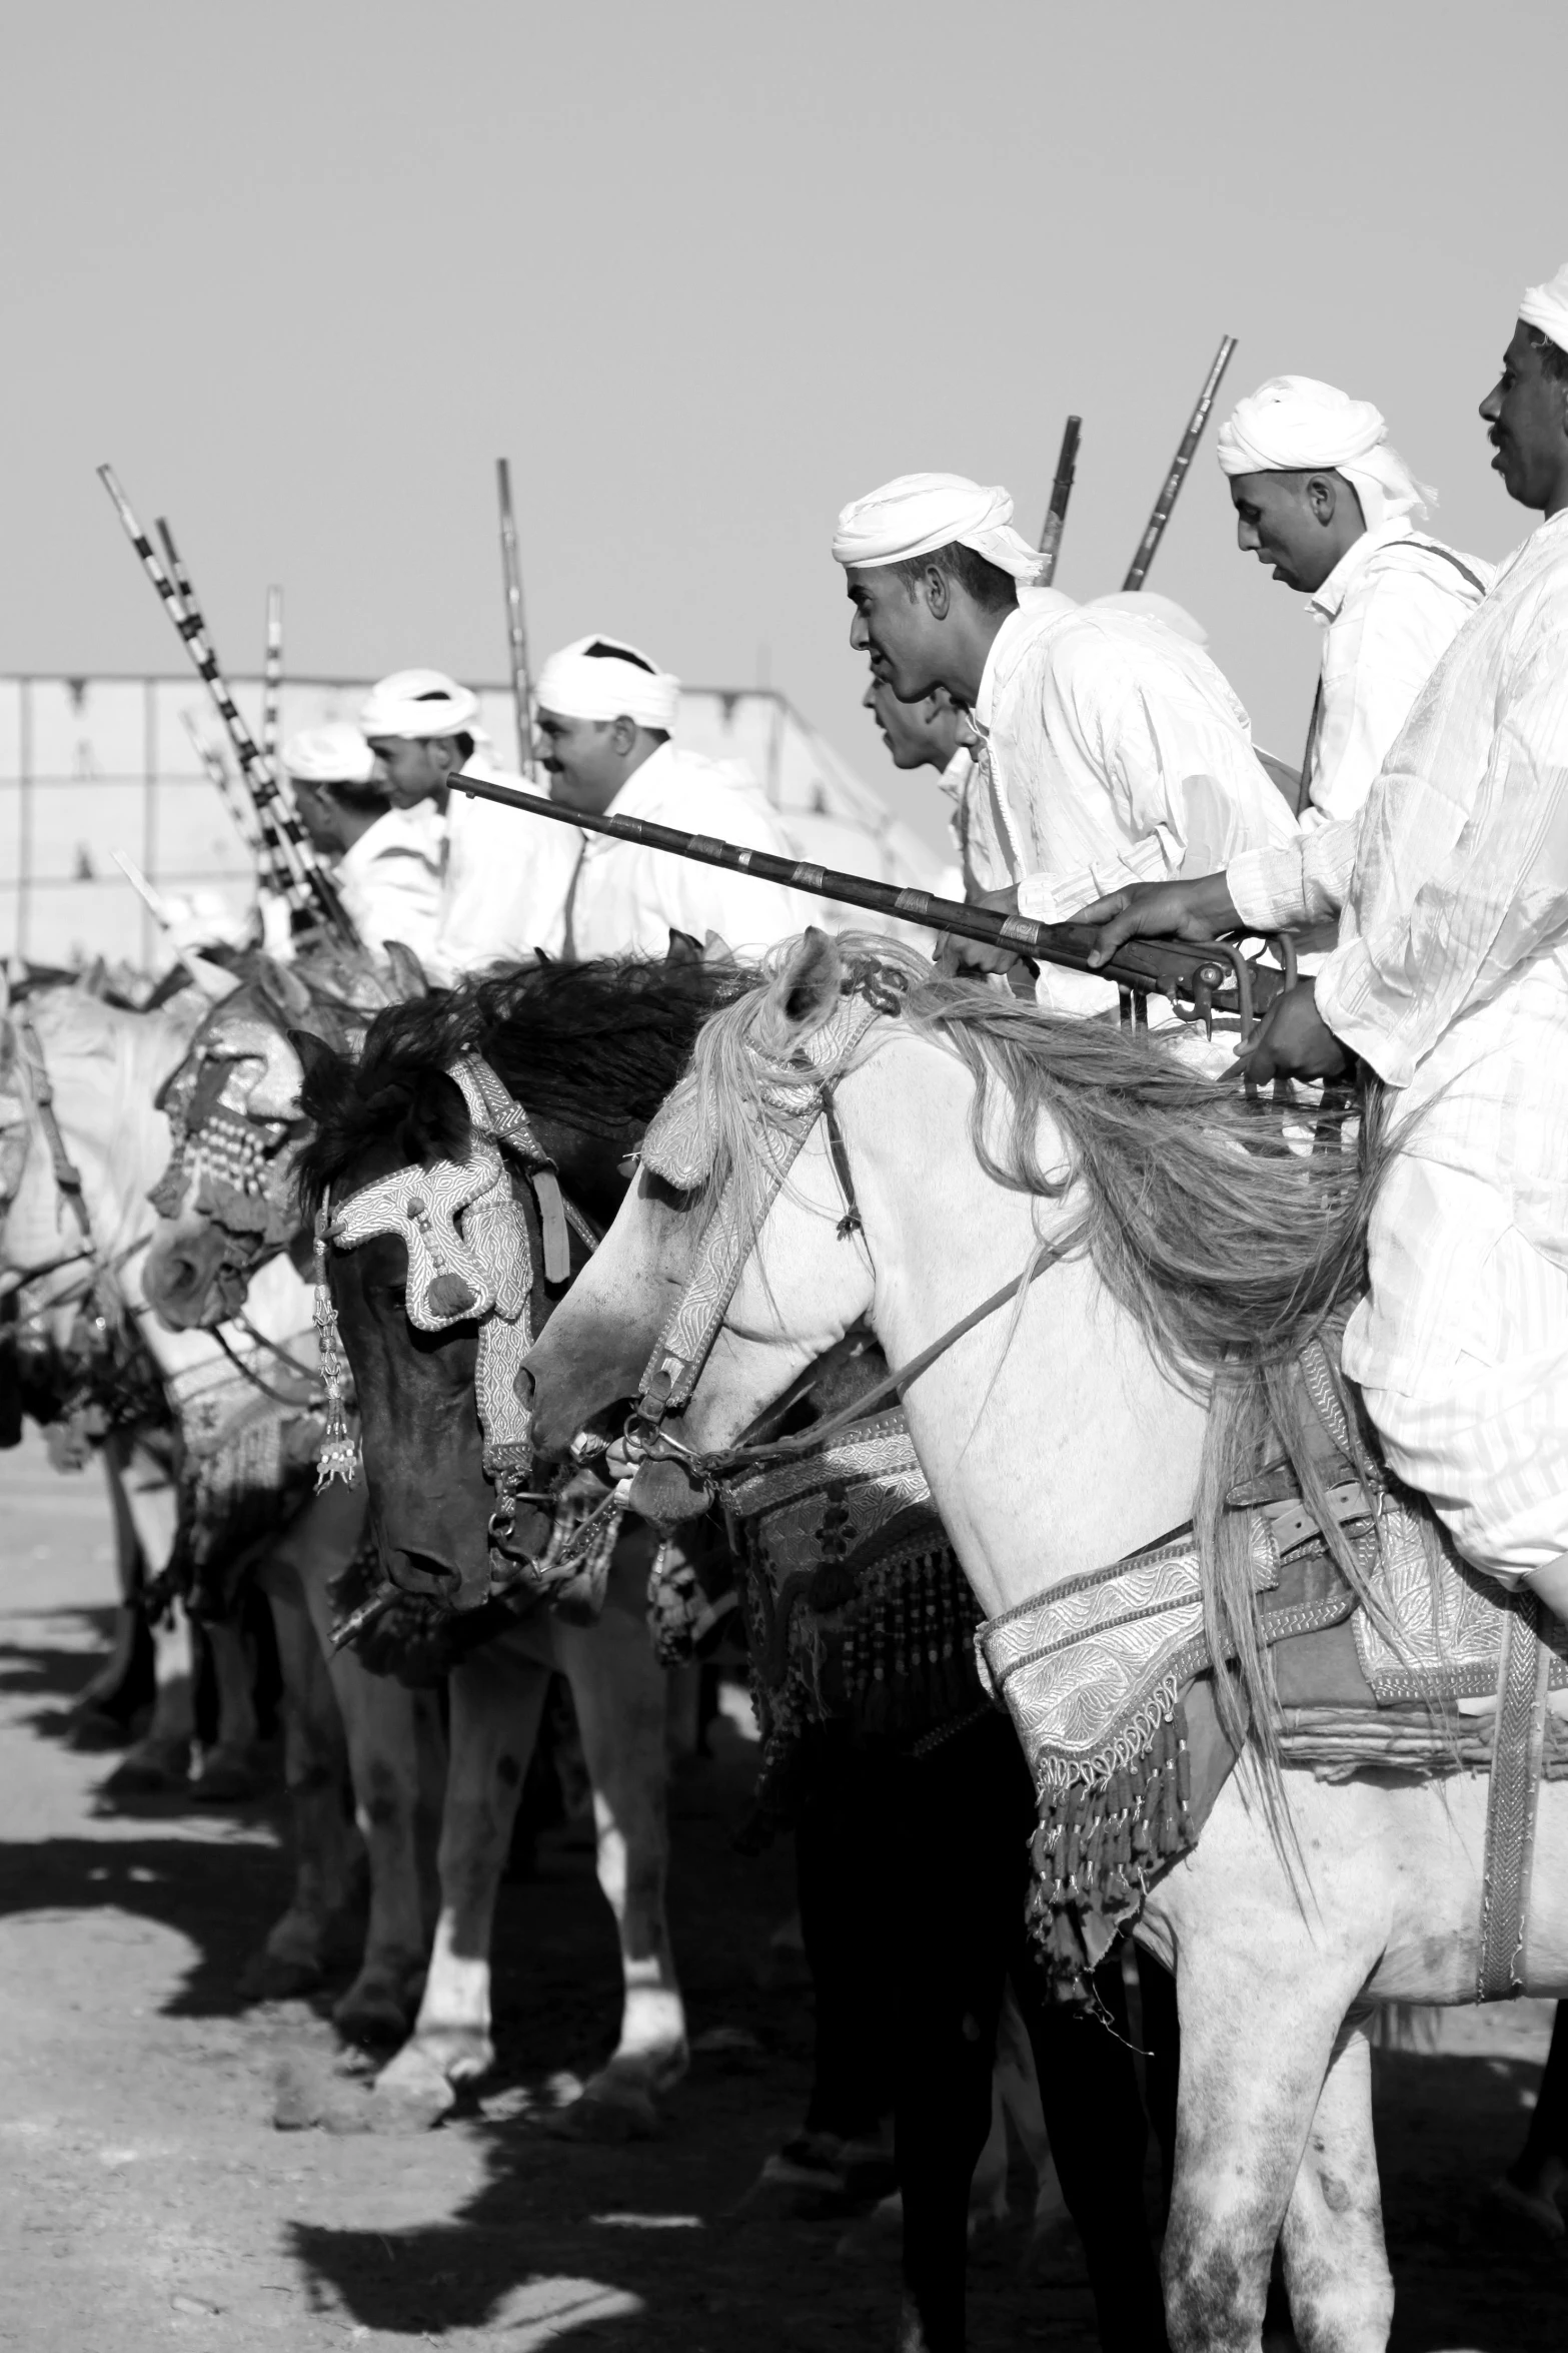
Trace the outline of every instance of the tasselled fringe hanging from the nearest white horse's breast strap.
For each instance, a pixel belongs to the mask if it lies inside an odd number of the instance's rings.
[[[1103,1777],[1046,1781],[1039,1793],[1027,1920],[1065,2002],[1091,2000],[1093,1972],[1143,1911],[1150,1885],[1197,1847],[1187,1711],[1168,1685],[1157,1699],[1166,1706],[1140,1753],[1124,1753],[1121,1739]]]

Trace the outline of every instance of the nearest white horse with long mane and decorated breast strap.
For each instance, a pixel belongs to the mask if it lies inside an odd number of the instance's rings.
[[[889,1360],[910,1365],[1013,1285],[1011,1306],[903,1393],[936,1504],[997,1619],[1201,1518],[1218,1346],[1208,1362],[1192,1346],[1182,1365],[1173,1334],[1192,1337],[1211,1315],[1246,1337],[1258,1301],[1279,1308],[1291,1282],[1305,1294],[1312,1233],[1321,1242],[1333,1212],[1312,1198],[1309,1165],[1302,1174],[1300,1162],[1248,1155],[1246,1115],[1147,1047],[931,981],[907,958],[903,979],[903,1016],[877,1019],[835,1052],[825,1040],[846,1002],[842,958],[809,932],[776,951],[759,995],[710,1019],[693,1078],[646,1146],[668,1172],[668,1139],[658,1144],[672,1122],[675,1160],[691,1169],[672,1184],[644,1165],[524,1372],[548,1454],[635,1393],[726,1179],[722,1214],[733,1212],[755,1247],[729,1304],[717,1301],[722,1322],[679,1417],[679,1442],[696,1454],[733,1445],[853,1325],[870,1322]],[[799,1125],[802,1101],[823,1085],[842,1148],[816,1118],[773,1195],[790,1106]],[[1166,1104],[1182,1099],[1180,1115],[1150,1108],[1161,1085]],[[1227,1209],[1248,1205],[1244,1245]],[[1135,1264],[1145,1209],[1147,1231],[1164,1217],[1182,1245],[1168,1252],[1164,1289]],[[1065,1245],[1060,1261],[1051,1245]],[[1345,1235],[1340,1247],[1354,1257]],[[1025,1285],[1030,1268],[1039,1280]],[[684,1348],[689,1332],[675,1327],[675,1339]],[[661,1348],[679,1355],[668,1334]],[[675,1501],[679,1464],[661,1461],[656,1475]],[[1182,2031],[1168,2329],[1175,2348],[1258,2353],[1279,2242],[1302,2348],[1375,2353],[1392,2280],[1366,2021],[1378,2002],[1474,1998],[1488,1781],[1319,1781],[1286,1769],[1281,1786],[1284,1838],[1267,1774],[1244,1758],[1138,1925],[1175,1969]],[[1540,1791],[1523,1927],[1526,1991],[1568,1993],[1563,1781]]]

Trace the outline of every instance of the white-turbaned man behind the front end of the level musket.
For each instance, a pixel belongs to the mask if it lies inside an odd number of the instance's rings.
[[[578,638],[538,673],[538,741],[550,798],[595,816],[642,816],[679,833],[708,833],[788,859],[773,812],[745,767],[703,760],[670,741],[679,680],[618,638]],[[527,824],[527,819],[524,819]],[[665,955],[670,932],[717,932],[738,955],[757,955],[811,922],[809,901],[778,882],[698,866],[604,833],[574,833],[559,953]]]

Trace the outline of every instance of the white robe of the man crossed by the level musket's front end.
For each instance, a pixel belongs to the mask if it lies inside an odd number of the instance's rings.
[[[792,856],[748,769],[729,760],[703,760],[672,744],[661,744],[632,769],[609,814],[646,816],[679,833],[708,833]],[[698,866],[668,849],[644,849],[604,833],[578,840],[564,925],[564,953],[576,958],[665,955],[672,929],[691,932],[693,939],[717,932],[736,955],[750,958],[820,920],[813,901],[778,882]]]

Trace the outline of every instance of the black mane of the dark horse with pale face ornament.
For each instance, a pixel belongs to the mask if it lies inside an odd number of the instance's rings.
[[[696,960],[517,965],[388,1007],[357,1061],[320,1054],[306,1071],[306,1212],[378,1146],[411,1165],[465,1158],[468,1104],[447,1078],[461,1054],[482,1054],[531,1120],[630,1141],[682,1075],[708,1014],[752,981]]]

